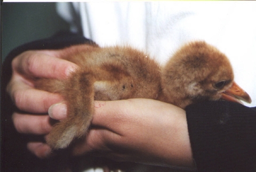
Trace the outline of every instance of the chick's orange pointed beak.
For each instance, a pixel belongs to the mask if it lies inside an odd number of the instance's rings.
[[[249,104],[252,102],[249,94],[247,94],[247,92],[245,92],[235,82],[233,82],[232,86],[228,90],[222,93],[221,98],[228,101],[238,102],[239,104],[242,104],[240,100],[248,102]]]

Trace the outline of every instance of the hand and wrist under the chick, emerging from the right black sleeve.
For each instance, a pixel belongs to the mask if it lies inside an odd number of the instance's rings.
[[[95,101],[91,129],[74,145],[73,155],[92,153],[116,161],[161,166],[193,166],[185,110],[150,99]],[[65,104],[51,107],[63,119]],[[35,154],[43,153],[38,147]]]

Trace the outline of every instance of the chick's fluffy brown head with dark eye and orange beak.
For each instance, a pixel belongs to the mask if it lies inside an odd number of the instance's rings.
[[[159,100],[181,108],[220,98],[238,102],[234,95],[251,102],[250,96],[234,82],[226,55],[204,41],[181,47],[163,67],[161,79]]]

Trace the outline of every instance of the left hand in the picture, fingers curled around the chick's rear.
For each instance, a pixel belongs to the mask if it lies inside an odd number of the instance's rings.
[[[50,132],[52,125],[47,111],[52,104],[62,101],[59,94],[36,90],[36,78],[65,79],[77,67],[74,63],[61,59],[62,50],[30,50],[12,61],[12,78],[7,85],[14,104],[20,111],[13,113],[16,130],[24,134],[42,135]],[[45,115],[42,115],[45,114]],[[49,147],[41,142],[28,143],[29,149]],[[38,157],[43,157],[40,153]]]

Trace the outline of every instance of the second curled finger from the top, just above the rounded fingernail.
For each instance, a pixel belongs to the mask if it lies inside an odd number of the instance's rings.
[[[51,105],[63,100],[59,94],[34,89],[18,79],[10,82],[7,91],[20,110],[30,113],[47,113]]]

